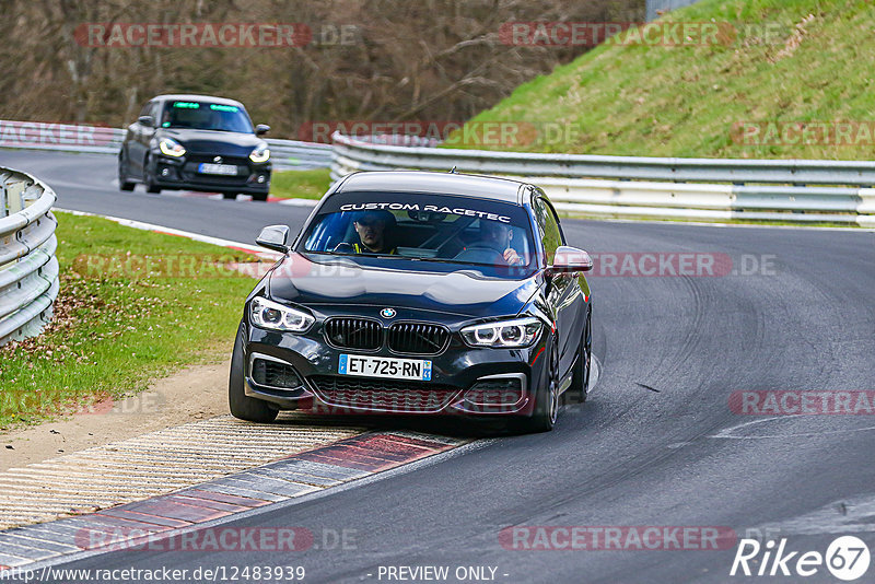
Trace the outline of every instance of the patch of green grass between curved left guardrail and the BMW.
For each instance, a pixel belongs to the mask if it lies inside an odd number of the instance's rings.
[[[39,337],[0,348],[0,430],[144,389],[230,352],[253,256],[57,213],[60,295]]]

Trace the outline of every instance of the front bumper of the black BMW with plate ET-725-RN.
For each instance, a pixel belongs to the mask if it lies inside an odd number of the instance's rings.
[[[421,355],[399,354],[385,346],[375,351],[331,347],[323,334],[322,320],[306,335],[249,326],[244,392],[279,409],[319,413],[530,416],[535,390],[544,385],[547,374],[541,354],[544,335],[529,348],[493,349],[468,347],[457,329],[451,328],[451,332],[444,351]],[[428,359],[432,362],[432,378],[401,382],[340,375],[340,354]],[[264,374],[254,371],[265,363],[270,363],[270,367],[291,367],[282,371],[298,381],[283,385],[299,382],[300,385],[288,388],[266,383]]]

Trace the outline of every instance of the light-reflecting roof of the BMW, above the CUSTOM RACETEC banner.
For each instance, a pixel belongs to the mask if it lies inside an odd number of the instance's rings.
[[[429,171],[377,171],[346,177],[335,192],[380,190],[383,192],[429,192],[462,195],[520,205],[527,183],[497,176]]]

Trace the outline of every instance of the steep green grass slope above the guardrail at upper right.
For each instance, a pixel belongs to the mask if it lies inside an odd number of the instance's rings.
[[[567,139],[510,147],[529,152],[873,159],[871,1],[703,0],[666,20],[718,23],[720,42],[635,46],[608,40],[521,85],[474,118],[472,127],[533,121],[570,129]],[[786,126],[797,121],[828,122],[830,141],[842,143],[824,143],[817,124],[801,138],[796,127]],[[836,125],[842,121],[851,122],[850,129]],[[743,131],[752,132],[751,124],[760,132],[745,140]],[[770,128],[789,133],[769,136]]]

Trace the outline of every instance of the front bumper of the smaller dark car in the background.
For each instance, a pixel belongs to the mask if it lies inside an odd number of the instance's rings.
[[[201,162],[211,160],[209,155],[188,155],[174,159],[154,153],[150,159],[150,173],[153,182],[162,189],[203,190],[209,192],[244,192],[262,195],[270,190],[270,162],[256,164],[244,157],[226,157],[229,164],[237,166],[232,176],[202,174],[198,172]]]

